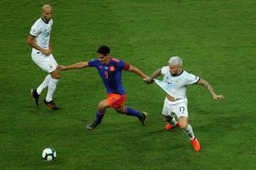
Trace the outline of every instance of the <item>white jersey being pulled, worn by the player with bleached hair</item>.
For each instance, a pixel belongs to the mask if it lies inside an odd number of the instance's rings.
[[[186,98],[186,86],[188,84],[195,84],[200,79],[193,74],[189,74],[185,70],[178,76],[171,76],[168,66],[161,68],[161,74],[164,75],[164,80],[159,81],[155,79],[156,84],[161,86],[161,88],[170,96],[179,99]]]

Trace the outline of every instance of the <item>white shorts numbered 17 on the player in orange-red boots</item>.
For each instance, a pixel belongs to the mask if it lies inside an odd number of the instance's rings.
[[[177,118],[184,116],[188,118],[188,99],[184,98],[178,101],[169,101],[167,97],[164,100],[163,115],[177,115]]]

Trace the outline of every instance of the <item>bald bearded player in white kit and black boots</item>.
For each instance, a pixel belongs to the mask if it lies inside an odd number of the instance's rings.
[[[53,94],[56,89],[58,80],[60,79],[60,71],[57,69],[57,62],[51,54],[50,31],[53,25],[53,11],[51,6],[45,5],[42,8],[42,17],[39,18],[31,27],[28,35],[27,43],[31,45],[31,57],[43,71],[48,72],[46,79],[37,89],[31,89],[33,100],[38,106],[38,99],[43,91],[48,86],[48,93],[44,99],[44,103],[55,110],[60,109],[53,101]]]

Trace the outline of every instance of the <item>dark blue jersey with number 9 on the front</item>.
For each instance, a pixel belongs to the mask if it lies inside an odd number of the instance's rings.
[[[128,70],[129,64],[122,60],[117,60],[110,57],[110,61],[106,64],[101,64],[100,60],[94,59],[88,62],[90,67],[96,67],[100,77],[105,84],[107,94],[124,95],[124,87],[122,86],[122,69]]]

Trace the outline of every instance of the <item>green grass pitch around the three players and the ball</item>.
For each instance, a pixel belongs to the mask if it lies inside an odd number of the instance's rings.
[[[34,106],[30,89],[46,72],[31,60],[26,38],[43,4],[54,9],[58,64],[91,60],[100,45],[146,74],[180,56],[186,71],[223,94],[214,101],[202,86],[188,87],[201,152],[181,130],[164,130],[164,91],[131,72],[123,72],[126,105],[149,112],[144,127],[108,109],[100,126],[85,129],[106,98],[95,68],[62,72],[60,111],[43,104],[47,89]],[[1,0],[0,11],[0,169],[256,169],[255,1]],[[52,162],[41,158],[46,147],[57,152]]]

